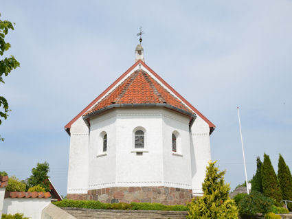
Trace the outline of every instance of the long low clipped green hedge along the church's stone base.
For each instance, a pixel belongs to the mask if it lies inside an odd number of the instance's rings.
[[[155,210],[155,211],[188,211],[186,205],[161,205],[158,203],[101,203],[98,200],[60,200],[54,202],[58,207],[77,207],[86,209],[115,210]]]

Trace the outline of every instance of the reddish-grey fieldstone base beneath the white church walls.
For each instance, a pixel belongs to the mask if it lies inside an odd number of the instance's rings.
[[[87,194],[67,194],[72,200],[99,200],[102,203],[161,203],[186,205],[192,199],[192,189],[174,187],[109,187],[89,190]]]

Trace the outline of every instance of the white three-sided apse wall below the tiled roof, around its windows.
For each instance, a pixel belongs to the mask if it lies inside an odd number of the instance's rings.
[[[91,119],[89,189],[102,187],[167,186],[191,189],[188,116],[166,108],[115,108]],[[145,148],[134,148],[134,132],[145,132]],[[172,132],[179,132],[177,154]],[[102,148],[100,133],[108,146]],[[178,148],[179,149],[179,148]],[[136,152],[143,152],[137,156]]]

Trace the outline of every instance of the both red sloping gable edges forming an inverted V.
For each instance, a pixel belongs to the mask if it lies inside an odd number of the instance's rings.
[[[175,95],[177,95],[177,97],[179,97],[180,100],[183,101],[183,103],[185,103],[187,106],[189,106],[192,111],[194,111],[194,113],[196,113],[196,115],[199,115],[199,117],[201,117],[205,122],[207,122],[207,124],[210,127],[210,130],[212,132],[212,130],[214,130],[215,125],[212,124],[212,122],[210,122],[202,113],[200,113],[196,108],[194,108],[194,106],[192,106],[192,104],[190,104],[190,102],[188,102],[185,98],[183,98],[177,91],[175,91],[175,89],[173,89],[166,81],[164,81],[162,78],[160,78],[157,73],[155,73],[155,71],[153,71],[152,69],[150,69],[150,67],[148,67],[148,65],[145,64],[145,62],[143,62],[142,60],[137,60],[137,62],[135,62],[134,65],[132,65],[126,72],[124,72],[122,74],[122,76],[120,76],[120,78],[117,78],[117,80],[115,80],[115,82],[113,82],[113,84],[111,84],[111,86],[109,86],[107,89],[105,89],[100,95],[98,95],[98,97],[96,97],[96,99],[94,99],[88,106],[86,106],[80,113],[78,113],[78,115],[76,115],[76,117],[74,117],[74,119],[72,119],[66,126],[65,126],[65,130],[68,132],[70,132],[70,128],[71,125],[76,122],[76,120],[78,118],[80,118],[82,115],[84,115],[89,108],[91,108],[94,104],[96,104],[96,102],[98,102],[100,99],[102,99],[104,97],[104,95],[106,95],[106,93],[108,93],[113,87],[115,87],[115,85],[120,82],[129,72],[131,72],[133,69],[135,69],[135,67],[137,67],[137,65],[142,65],[143,67],[145,67],[148,71],[150,71],[150,73],[153,74],[153,76],[155,76],[155,78],[157,78],[162,84],[164,84],[168,89],[170,89],[170,91],[172,91],[173,93],[175,93]]]

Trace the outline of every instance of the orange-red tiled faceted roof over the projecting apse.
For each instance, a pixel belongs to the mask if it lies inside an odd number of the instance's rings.
[[[168,104],[194,114],[177,97],[156,82],[146,71],[139,69],[131,73],[124,82],[93,106],[85,115],[98,111],[111,104]]]

